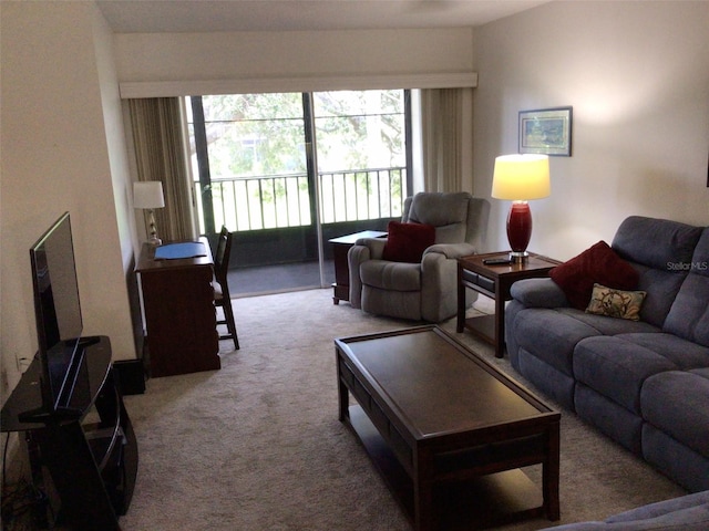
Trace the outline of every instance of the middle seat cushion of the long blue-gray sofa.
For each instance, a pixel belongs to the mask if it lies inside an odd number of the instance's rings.
[[[660,354],[614,336],[580,341],[573,367],[577,382],[638,415],[643,383],[654,374],[678,368]]]

